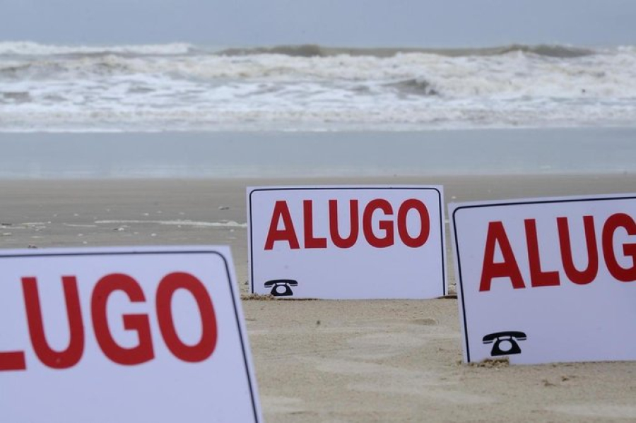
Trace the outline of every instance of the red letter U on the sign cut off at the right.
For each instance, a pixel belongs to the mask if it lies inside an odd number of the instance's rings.
[[[557,218],[559,228],[559,244],[561,246],[561,260],[565,275],[572,282],[585,285],[596,278],[599,273],[599,251],[596,246],[596,234],[594,234],[594,216],[583,216],[585,227],[585,244],[587,245],[587,268],[579,271],[572,258],[572,246],[570,244],[570,228],[567,227],[567,218]]]

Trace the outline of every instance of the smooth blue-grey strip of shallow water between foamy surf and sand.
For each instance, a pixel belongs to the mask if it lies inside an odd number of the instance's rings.
[[[636,127],[353,132],[0,132],[0,179],[636,172]]]

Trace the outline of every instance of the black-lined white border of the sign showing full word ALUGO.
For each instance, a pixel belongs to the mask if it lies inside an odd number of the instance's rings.
[[[446,230],[444,228],[444,205],[442,186],[438,185],[308,185],[308,186],[248,186],[247,190],[247,232],[248,232],[248,244],[247,244],[247,260],[249,261],[249,291],[254,294],[254,259],[252,258],[253,241],[252,241],[252,193],[256,191],[305,191],[305,190],[334,190],[334,189],[365,189],[365,190],[379,190],[379,189],[421,189],[428,191],[435,191],[437,193],[437,202],[440,212],[440,243],[442,244],[440,254],[442,255],[442,297],[448,295],[448,272],[447,272],[447,257],[446,257]]]

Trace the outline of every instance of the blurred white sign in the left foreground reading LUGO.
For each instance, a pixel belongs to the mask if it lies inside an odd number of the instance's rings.
[[[260,422],[228,247],[0,251],[0,422]]]

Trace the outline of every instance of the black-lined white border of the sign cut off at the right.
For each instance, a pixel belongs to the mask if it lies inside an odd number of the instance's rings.
[[[466,208],[485,208],[485,207],[506,207],[509,205],[528,205],[528,204],[554,204],[554,203],[579,203],[584,201],[612,201],[612,200],[636,200],[633,193],[605,194],[592,196],[562,196],[562,197],[536,197],[536,198],[517,198],[512,200],[494,200],[494,201],[469,201],[466,203],[449,203],[449,215],[452,246],[454,252],[454,268],[458,297],[458,304],[461,306],[461,342],[464,344],[464,362],[471,362],[471,352],[469,345],[468,323],[466,322],[466,305],[464,304],[464,284],[461,278],[461,258],[459,257],[459,242],[457,239],[457,231],[455,230],[455,213]]]

